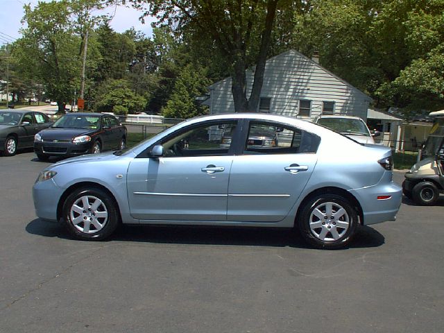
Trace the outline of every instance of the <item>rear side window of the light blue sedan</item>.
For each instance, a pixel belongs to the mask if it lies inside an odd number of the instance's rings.
[[[321,140],[299,128],[253,121],[248,129],[245,154],[316,153]]]

